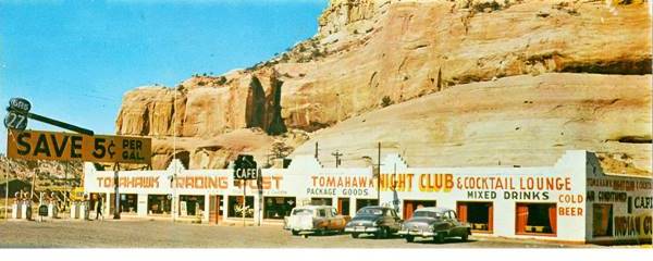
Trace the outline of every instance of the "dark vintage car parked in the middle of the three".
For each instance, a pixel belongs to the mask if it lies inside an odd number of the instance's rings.
[[[385,238],[402,227],[402,219],[394,209],[387,207],[365,207],[347,223],[345,232],[357,238],[360,234],[372,234]]]

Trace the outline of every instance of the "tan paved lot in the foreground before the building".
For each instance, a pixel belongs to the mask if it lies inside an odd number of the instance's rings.
[[[467,243],[406,243],[403,238],[352,238],[349,235],[292,236],[281,226],[210,226],[171,221],[0,221],[2,248],[567,248],[537,240],[470,237]]]

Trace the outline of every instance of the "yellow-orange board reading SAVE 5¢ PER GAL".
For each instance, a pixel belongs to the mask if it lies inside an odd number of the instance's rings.
[[[9,130],[7,154],[23,160],[83,160],[90,162],[151,162],[150,138],[83,135],[39,130]]]

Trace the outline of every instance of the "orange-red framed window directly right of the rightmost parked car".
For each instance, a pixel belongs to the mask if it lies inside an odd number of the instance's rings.
[[[458,220],[469,223],[477,232],[492,232],[494,211],[492,202],[458,202]]]

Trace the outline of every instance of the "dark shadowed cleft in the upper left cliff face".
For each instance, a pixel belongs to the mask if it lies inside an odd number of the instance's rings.
[[[280,135],[287,132],[281,117],[281,86],[283,82],[274,75],[270,78],[270,90],[266,95],[258,77],[252,76],[247,92],[245,117],[248,128],[260,127],[269,135]]]

